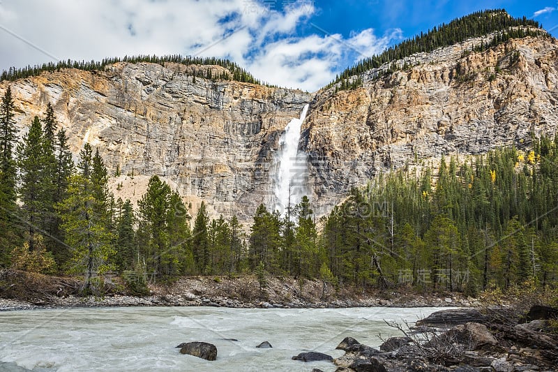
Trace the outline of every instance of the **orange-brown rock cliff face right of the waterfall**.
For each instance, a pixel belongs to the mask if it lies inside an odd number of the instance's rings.
[[[319,211],[380,170],[521,148],[531,132],[556,133],[557,40],[525,38],[472,52],[480,43],[415,54],[406,61],[412,68],[377,78],[382,66],[363,75],[360,89],[317,94],[304,128]]]

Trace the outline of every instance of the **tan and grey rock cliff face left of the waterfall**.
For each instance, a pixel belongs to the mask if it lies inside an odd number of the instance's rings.
[[[98,148],[117,196],[139,200],[153,174],[162,176],[195,213],[248,221],[269,202],[269,168],[283,128],[310,94],[194,78],[220,66],[115,64],[103,72],[62,70],[11,83],[22,131],[52,103],[74,154]],[[3,94],[7,83],[1,84]]]

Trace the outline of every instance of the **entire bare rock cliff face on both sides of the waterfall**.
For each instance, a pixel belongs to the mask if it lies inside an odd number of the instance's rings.
[[[76,155],[89,142],[111,173],[121,170],[111,181],[116,195],[138,200],[158,174],[192,202],[193,213],[204,200],[213,216],[237,214],[249,223],[259,203],[273,205],[273,151],[306,103],[301,148],[318,214],[379,170],[522,147],[531,132],[553,135],[557,40],[525,38],[472,52],[478,43],[416,54],[407,59],[414,67],[379,78],[369,71],[363,87],[338,93],[194,81],[193,69],[216,75],[221,68],[177,64],[61,70],[10,84],[22,131],[52,103]]]

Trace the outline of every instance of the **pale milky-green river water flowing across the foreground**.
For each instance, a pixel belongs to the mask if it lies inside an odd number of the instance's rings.
[[[69,308],[0,313],[0,371],[335,371],[329,362],[291,360],[335,350],[346,336],[378,347],[398,332],[385,320],[415,322],[439,308]],[[238,341],[232,341],[230,339]],[[205,341],[218,356],[181,355]],[[273,348],[258,349],[269,341]]]

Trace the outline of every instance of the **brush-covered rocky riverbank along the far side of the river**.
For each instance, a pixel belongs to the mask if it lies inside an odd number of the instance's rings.
[[[260,288],[257,278],[199,276],[174,283],[149,285],[149,295],[130,295],[120,278],[106,280],[105,294],[82,297],[76,278],[0,271],[0,311],[33,308],[93,306],[216,306],[230,308],[345,308],[345,307],[472,307],[478,300],[459,294],[421,295],[397,291],[363,291],[322,281],[289,277],[266,278]]]

